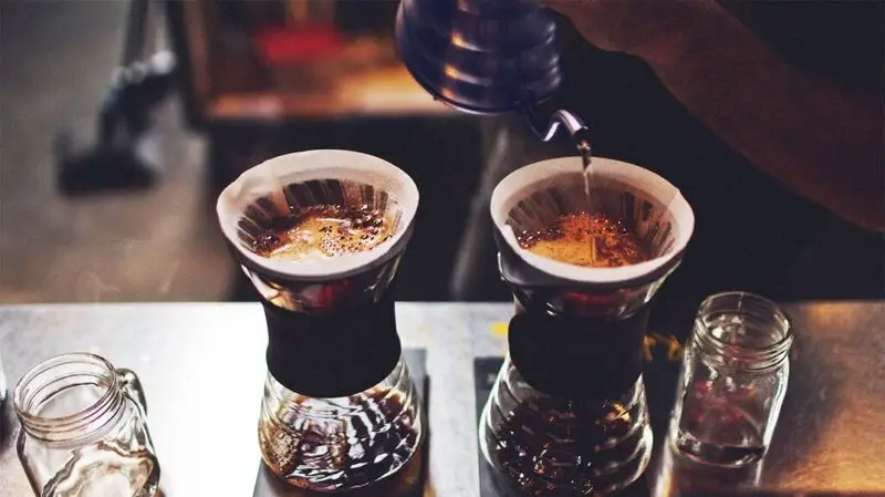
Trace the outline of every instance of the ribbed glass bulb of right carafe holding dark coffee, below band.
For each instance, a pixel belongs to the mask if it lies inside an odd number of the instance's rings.
[[[486,444],[507,486],[535,497],[608,495],[644,469],[644,412],[611,402],[520,404]]]

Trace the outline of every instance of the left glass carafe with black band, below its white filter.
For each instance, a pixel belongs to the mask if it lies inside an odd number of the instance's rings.
[[[290,485],[396,496],[418,479],[423,408],[386,286],[394,267],[321,291],[290,284],[288,298],[262,302],[270,344],[259,443],[267,466]],[[267,290],[259,280],[253,275]],[[354,284],[367,280],[381,284]],[[323,303],[309,296],[324,296]],[[299,311],[273,302],[299,302]]]

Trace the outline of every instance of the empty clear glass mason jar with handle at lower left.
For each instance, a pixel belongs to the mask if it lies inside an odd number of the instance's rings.
[[[152,497],[159,463],[138,377],[72,353],[24,374],[13,394],[17,449],[34,494]]]

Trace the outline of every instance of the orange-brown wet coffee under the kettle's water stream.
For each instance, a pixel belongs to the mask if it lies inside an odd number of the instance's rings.
[[[541,229],[517,234],[517,241],[538,256],[591,268],[617,268],[653,258],[624,222],[602,213],[563,214]]]

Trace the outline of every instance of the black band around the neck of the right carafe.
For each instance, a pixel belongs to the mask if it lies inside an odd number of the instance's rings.
[[[520,313],[510,321],[510,359],[549,395],[614,400],[642,374],[647,322],[647,308],[618,321]]]

